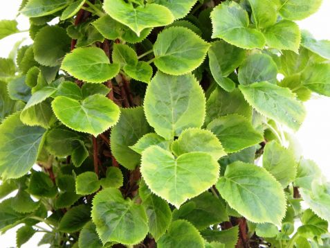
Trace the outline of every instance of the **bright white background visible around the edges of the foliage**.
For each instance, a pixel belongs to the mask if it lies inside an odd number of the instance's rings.
[[[313,0],[311,0],[313,1]],[[15,19],[21,0],[3,1],[0,19]],[[28,19],[19,16],[19,29],[28,29]],[[330,0],[324,0],[320,10],[313,16],[297,22],[302,29],[309,30],[316,39],[330,40]],[[0,57],[7,57],[15,42],[28,38],[28,33],[12,35],[0,40]],[[27,39],[24,43],[28,43]],[[324,175],[330,179],[330,98],[313,96],[305,103],[307,116],[300,130],[295,134],[300,141],[304,157],[313,159]],[[26,243],[24,248],[37,247],[39,233]],[[0,236],[0,247],[15,247],[15,231]],[[47,247],[47,246],[43,246]]]

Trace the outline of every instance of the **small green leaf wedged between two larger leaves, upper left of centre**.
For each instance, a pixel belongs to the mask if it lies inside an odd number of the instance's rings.
[[[137,64],[138,55],[136,55],[133,48],[125,44],[113,44],[112,60],[113,63],[120,64],[123,67],[126,64]]]

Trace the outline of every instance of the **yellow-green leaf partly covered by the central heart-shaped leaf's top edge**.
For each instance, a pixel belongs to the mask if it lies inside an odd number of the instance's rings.
[[[218,160],[226,155],[217,136],[208,130],[197,128],[184,130],[172,143],[171,149],[176,157],[189,152],[205,152]]]

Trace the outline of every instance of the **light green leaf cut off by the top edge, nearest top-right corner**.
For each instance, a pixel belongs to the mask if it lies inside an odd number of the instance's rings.
[[[322,4],[322,0],[280,0],[282,3],[279,8],[279,15],[284,19],[302,20],[313,15]]]

